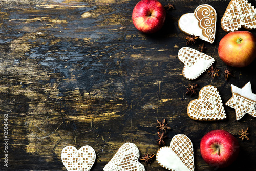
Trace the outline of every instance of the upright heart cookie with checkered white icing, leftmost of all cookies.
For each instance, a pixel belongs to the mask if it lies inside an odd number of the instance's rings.
[[[73,146],[66,146],[62,149],[61,159],[68,171],[89,171],[95,162],[96,153],[88,145],[79,150]]]

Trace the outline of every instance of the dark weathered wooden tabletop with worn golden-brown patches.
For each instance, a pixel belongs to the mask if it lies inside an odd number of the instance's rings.
[[[132,22],[138,0],[2,0],[0,1],[0,170],[66,170],[61,150],[92,146],[97,160],[92,170],[102,170],[119,147],[133,142],[144,153],[156,153],[156,120],[172,127],[166,144],[176,134],[187,135],[194,146],[195,170],[216,170],[200,155],[201,138],[224,129],[239,141],[240,155],[230,170],[256,170],[256,120],[246,114],[236,121],[234,109],[224,105],[224,121],[195,121],[187,105],[190,83],[211,84],[223,103],[232,96],[230,85],[251,81],[256,93],[255,65],[226,66],[218,45],[226,35],[220,19],[229,1],[166,1],[176,9],[167,12],[163,29],[152,35],[139,32]],[[249,1],[256,6],[254,1]],[[186,36],[177,26],[180,16],[200,4],[217,11],[214,44],[204,42],[206,54],[215,58],[219,77],[207,73],[195,81],[182,75],[178,50]],[[256,35],[256,30],[251,30]],[[198,49],[203,41],[189,47]],[[229,68],[235,77],[225,81]],[[8,168],[4,166],[4,114],[8,114]],[[239,139],[249,127],[250,141]],[[141,161],[143,163],[143,161]],[[165,170],[154,161],[146,170]],[[227,169],[219,169],[227,170]]]

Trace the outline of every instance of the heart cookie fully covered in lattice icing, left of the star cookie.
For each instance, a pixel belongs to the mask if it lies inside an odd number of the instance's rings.
[[[194,120],[222,120],[226,118],[220,94],[216,87],[204,86],[199,98],[190,101],[187,114]]]

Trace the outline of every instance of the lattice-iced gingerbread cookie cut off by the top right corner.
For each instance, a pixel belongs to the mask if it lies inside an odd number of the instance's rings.
[[[247,0],[231,0],[221,18],[221,27],[226,32],[256,28],[256,12]]]

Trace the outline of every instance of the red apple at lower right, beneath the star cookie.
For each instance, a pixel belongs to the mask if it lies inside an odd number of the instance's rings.
[[[200,142],[200,152],[211,167],[227,167],[236,160],[239,153],[237,139],[225,130],[212,130]]]

